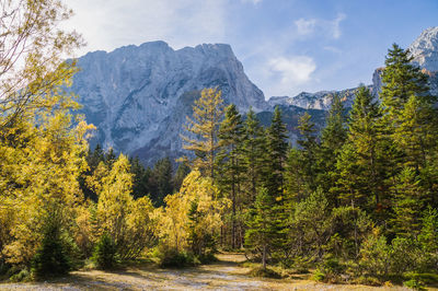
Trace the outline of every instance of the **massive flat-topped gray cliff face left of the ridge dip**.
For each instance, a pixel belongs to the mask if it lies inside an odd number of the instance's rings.
[[[89,53],[71,90],[87,120],[97,127],[92,144],[139,155],[146,164],[182,152],[180,133],[193,101],[218,86],[241,112],[269,108],[229,45],[174,50],[164,42]]]

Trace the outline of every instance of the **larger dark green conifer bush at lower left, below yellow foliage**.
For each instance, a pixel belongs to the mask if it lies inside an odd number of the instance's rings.
[[[43,242],[31,265],[36,278],[66,275],[71,269],[71,261],[58,223],[46,225]]]

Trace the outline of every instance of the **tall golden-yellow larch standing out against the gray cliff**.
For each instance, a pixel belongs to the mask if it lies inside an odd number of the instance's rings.
[[[219,125],[223,115],[221,91],[204,89],[200,97],[193,105],[193,118],[187,116],[188,126],[185,129],[195,136],[181,136],[186,144],[184,149],[196,155],[195,167],[215,179],[215,159],[219,150]]]

